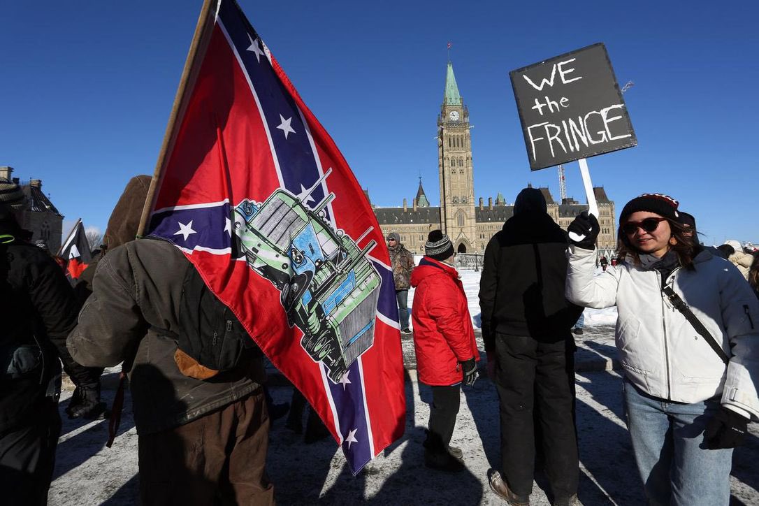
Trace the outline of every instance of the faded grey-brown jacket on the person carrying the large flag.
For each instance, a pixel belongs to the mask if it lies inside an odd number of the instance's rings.
[[[179,332],[188,262],[162,240],[133,240],[110,250],[97,266],[93,294],[66,343],[74,360],[86,366],[125,360],[139,434],[195,420],[250,394],[264,379],[260,356],[204,381],[178,369],[175,341],[156,329]]]

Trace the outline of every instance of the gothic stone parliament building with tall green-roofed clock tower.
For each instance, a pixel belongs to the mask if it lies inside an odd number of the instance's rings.
[[[402,207],[374,207],[374,213],[383,234],[398,232],[401,242],[412,253],[424,254],[427,233],[441,228],[453,241],[458,253],[481,253],[490,237],[499,231],[514,214],[514,206],[507,205],[501,193],[488,198],[487,206],[480,197],[474,201],[474,168],[472,165],[469,111],[458,93],[449,62],[446,73],[446,91],[437,118],[438,152],[437,166],[440,182],[439,207],[430,206],[419,181],[417,196],[403,200]],[[587,210],[574,200],[556,203],[548,188],[540,188],[546,197],[548,213],[562,228],[567,228],[576,215]],[[606,196],[603,187],[595,187],[594,193],[599,209],[601,233],[600,249],[616,246],[614,203]]]

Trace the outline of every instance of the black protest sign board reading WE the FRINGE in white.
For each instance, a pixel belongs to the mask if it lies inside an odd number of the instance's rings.
[[[509,75],[533,171],[638,144],[603,43]]]

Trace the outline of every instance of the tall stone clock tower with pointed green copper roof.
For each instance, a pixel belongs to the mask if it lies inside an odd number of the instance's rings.
[[[474,174],[469,112],[458,94],[453,65],[448,62],[446,93],[437,118],[440,222],[457,253],[476,250]]]

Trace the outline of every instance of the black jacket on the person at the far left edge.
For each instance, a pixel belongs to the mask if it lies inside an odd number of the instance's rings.
[[[17,238],[27,234],[7,211],[0,209],[0,433],[27,425],[46,397],[57,396],[58,356],[71,358],[66,336],[77,322],[74,294],[60,267]]]

